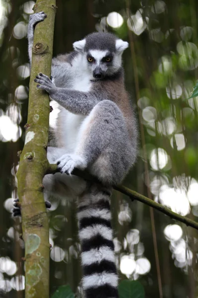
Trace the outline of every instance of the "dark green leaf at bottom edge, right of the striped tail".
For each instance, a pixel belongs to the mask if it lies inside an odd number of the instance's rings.
[[[118,286],[119,298],[144,298],[144,288],[137,281],[124,280]]]

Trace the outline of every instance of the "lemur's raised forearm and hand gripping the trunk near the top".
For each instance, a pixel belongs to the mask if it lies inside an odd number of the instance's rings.
[[[47,14],[44,11],[30,15],[30,20],[29,20],[28,30],[27,30],[28,54],[29,54],[29,59],[30,59],[30,65],[32,62],[32,47],[33,47],[33,41],[34,41],[34,28],[37,23],[42,22],[46,17],[47,17]]]

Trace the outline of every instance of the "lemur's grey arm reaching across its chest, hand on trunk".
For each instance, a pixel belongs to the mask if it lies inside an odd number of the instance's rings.
[[[83,92],[68,88],[59,88],[45,74],[38,74],[34,79],[39,89],[46,90],[52,99],[71,113],[88,115],[93,107],[102,99],[96,91]]]

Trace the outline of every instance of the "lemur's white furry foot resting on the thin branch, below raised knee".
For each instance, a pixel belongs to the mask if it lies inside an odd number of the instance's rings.
[[[72,173],[74,168],[84,170],[86,166],[86,160],[75,154],[64,154],[57,159],[57,169],[61,173],[66,173],[68,175]]]

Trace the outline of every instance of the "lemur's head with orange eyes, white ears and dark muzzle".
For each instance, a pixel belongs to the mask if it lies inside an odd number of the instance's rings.
[[[73,43],[74,50],[82,55],[88,71],[96,79],[118,72],[122,66],[123,51],[128,46],[128,42],[114,34],[103,32],[91,33]]]

